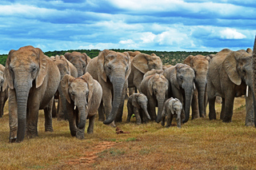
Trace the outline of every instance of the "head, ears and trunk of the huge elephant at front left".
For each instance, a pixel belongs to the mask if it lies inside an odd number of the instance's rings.
[[[6,59],[4,71],[5,81],[3,89],[7,85],[15,89],[18,105],[18,132],[17,141],[22,141],[26,132],[27,101],[32,86],[40,88],[48,69],[46,56],[41,49],[33,46],[25,46],[18,50],[10,50]]]

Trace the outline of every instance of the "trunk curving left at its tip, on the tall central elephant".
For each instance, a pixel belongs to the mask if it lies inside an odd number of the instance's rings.
[[[110,123],[112,123],[112,121],[114,121],[115,117],[117,117],[118,108],[122,100],[122,89],[125,83],[125,76],[123,75],[123,77],[115,77],[114,80],[112,80],[111,82],[114,89],[114,97],[112,101],[111,113],[107,117],[106,121],[103,121],[105,125],[109,125]]]

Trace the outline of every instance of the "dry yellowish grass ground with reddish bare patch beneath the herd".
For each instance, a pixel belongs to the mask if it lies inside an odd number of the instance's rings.
[[[235,99],[229,124],[199,118],[182,128],[117,124],[123,132],[96,121],[85,140],[70,135],[67,121],[53,120],[54,132],[44,132],[39,112],[38,137],[8,142],[8,105],[0,118],[0,169],[256,169],[256,128],[245,126],[245,99]],[[208,111],[208,109],[207,109]],[[175,124],[175,122],[173,122]]]

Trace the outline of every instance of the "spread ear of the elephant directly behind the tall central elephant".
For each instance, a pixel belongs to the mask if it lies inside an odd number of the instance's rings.
[[[147,65],[147,58],[150,55],[146,53],[138,53],[133,59],[133,65],[136,69],[138,69],[142,73],[146,73],[149,71],[149,66]]]

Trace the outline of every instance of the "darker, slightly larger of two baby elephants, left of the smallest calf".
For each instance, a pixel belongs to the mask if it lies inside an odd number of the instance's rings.
[[[150,115],[147,112],[147,103],[147,97],[143,93],[130,95],[127,102],[128,116],[126,122],[130,122],[130,117],[133,113],[135,114],[137,124],[146,123],[147,119],[150,120]]]

